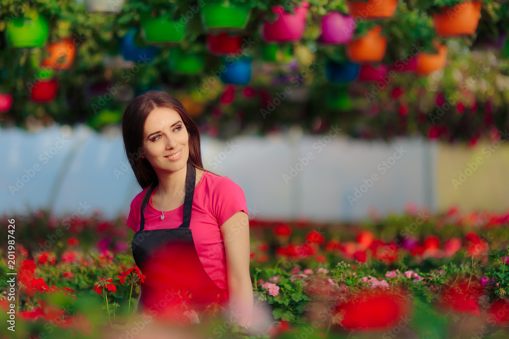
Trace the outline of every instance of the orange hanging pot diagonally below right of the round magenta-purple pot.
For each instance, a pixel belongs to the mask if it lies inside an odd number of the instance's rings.
[[[381,61],[387,49],[387,39],[380,36],[382,27],[375,26],[367,34],[347,44],[347,56],[350,61],[371,63]]]

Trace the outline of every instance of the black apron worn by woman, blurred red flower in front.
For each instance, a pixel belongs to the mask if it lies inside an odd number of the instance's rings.
[[[195,180],[196,169],[187,162],[184,218],[178,228],[145,230],[144,211],[157,180],[143,198],[140,227],[131,241],[134,261],[146,276],[139,301],[142,309],[160,312],[184,301],[189,309],[203,311],[211,303],[227,303],[228,291],[217,287],[203,268],[189,229]]]

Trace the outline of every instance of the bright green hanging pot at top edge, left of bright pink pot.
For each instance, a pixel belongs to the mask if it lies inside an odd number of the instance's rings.
[[[231,3],[228,0],[209,1],[201,9],[202,23],[207,32],[213,30],[242,30],[249,21],[249,4]]]

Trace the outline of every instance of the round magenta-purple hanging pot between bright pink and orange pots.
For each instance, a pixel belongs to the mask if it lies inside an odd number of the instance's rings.
[[[319,41],[324,44],[346,44],[352,39],[354,30],[353,17],[331,12],[322,18],[322,35]]]

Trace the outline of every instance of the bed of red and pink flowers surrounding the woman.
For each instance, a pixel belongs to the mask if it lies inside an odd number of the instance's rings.
[[[7,279],[0,283],[0,307],[18,314],[16,332],[4,326],[2,336],[128,337],[154,330],[157,307],[133,312],[145,277],[134,265],[123,218],[66,220],[37,211],[14,219],[17,287],[11,293]],[[411,206],[361,224],[253,220],[251,332],[223,318],[218,305],[197,314],[187,296],[180,296],[181,317],[165,324],[204,338],[506,337],[507,224],[506,213],[451,208],[430,215]],[[0,267],[9,271],[3,251]]]

